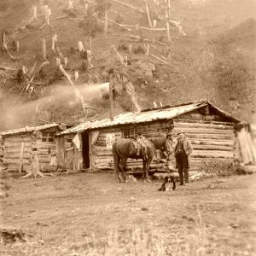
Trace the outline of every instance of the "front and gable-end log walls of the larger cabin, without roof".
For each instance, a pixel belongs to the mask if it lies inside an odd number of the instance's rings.
[[[132,126],[119,126],[118,128],[102,129],[96,141],[93,157],[90,157],[90,165],[100,169],[113,169],[112,148],[106,147],[108,133],[114,133],[115,139],[122,137],[122,130],[133,128]],[[223,117],[218,115],[204,115],[202,113],[189,113],[178,116],[173,120],[154,121],[146,124],[136,125],[145,137],[158,137],[162,132],[172,131],[173,146],[177,142],[176,133],[178,130],[186,132],[189,138],[193,153],[191,154],[192,169],[198,168],[201,164],[210,161],[223,161],[231,163],[234,159],[236,148],[236,136],[232,122],[225,122]],[[174,160],[169,166],[174,169]],[[142,160],[127,160],[128,170],[141,169]],[[165,164],[153,161],[151,168],[165,169]]]

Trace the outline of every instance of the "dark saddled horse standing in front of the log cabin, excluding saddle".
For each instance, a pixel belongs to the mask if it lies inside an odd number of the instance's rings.
[[[113,143],[113,161],[114,161],[114,173],[119,178],[119,182],[125,182],[125,166],[127,158],[132,159],[142,159],[143,160],[143,180],[145,178],[149,182],[148,169],[151,161],[154,158],[156,149],[164,149],[167,152],[171,152],[172,145],[165,136],[155,137],[147,140],[146,154],[143,154],[140,150],[140,154],[137,154],[137,149],[132,143],[132,139],[120,138],[115,143]],[[121,172],[123,180],[119,177],[119,172]]]

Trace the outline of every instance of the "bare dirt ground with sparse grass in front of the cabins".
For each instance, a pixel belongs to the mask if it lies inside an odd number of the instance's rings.
[[[207,177],[160,192],[159,180],[110,173],[3,179],[1,226],[26,241],[1,241],[0,254],[255,255],[255,181]]]

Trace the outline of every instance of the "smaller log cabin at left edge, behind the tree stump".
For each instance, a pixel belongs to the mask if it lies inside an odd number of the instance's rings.
[[[55,133],[65,130],[66,125],[48,124],[3,131],[3,165],[11,174],[28,171],[32,148],[37,148],[41,172],[57,168]]]

